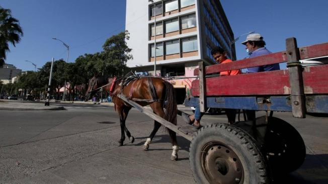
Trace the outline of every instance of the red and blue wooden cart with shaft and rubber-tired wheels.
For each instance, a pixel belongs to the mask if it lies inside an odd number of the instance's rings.
[[[126,103],[191,141],[190,167],[198,183],[269,183],[275,175],[296,170],[305,159],[302,137],[274,111],[328,113],[328,65],[302,67],[299,60],[328,55],[328,43],[297,47],[286,39],[286,51],[226,64],[199,63],[193,96],[185,106],[265,111],[266,116],[235,125],[212,124],[197,130],[178,127],[118,95]],[[287,62],[288,69],[219,77],[212,73]],[[181,115],[183,112],[178,112]]]

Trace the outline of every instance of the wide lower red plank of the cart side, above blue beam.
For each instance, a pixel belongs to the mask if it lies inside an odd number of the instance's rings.
[[[305,67],[305,94],[328,94],[328,65]],[[289,71],[246,73],[206,78],[206,97],[290,95]],[[199,96],[199,80],[192,82],[191,95]]]

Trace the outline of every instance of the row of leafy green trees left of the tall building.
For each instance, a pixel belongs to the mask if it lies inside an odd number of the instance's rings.
[[[75,85],[88,85],[89,79],[95,75],[118,76],[129,71],[126,62],[132,59],[131,49],[126,45],[129,39],[127,31],[114,35],[106,40],[103,51],[85,54],[76,58],[74,63],[66,63],[63,59],[56,60],[52,68],[51,89],[69,82],[71,89]],[[51,62],[46,62],[38,72],[28,71],[19,75],[16,88],[36,89],[43,91],[49,82]]]

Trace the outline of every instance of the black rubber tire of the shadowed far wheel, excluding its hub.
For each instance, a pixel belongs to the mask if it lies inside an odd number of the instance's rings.
[[[268,137],[271,135],[271,130],[275,133],[279,133],[282,139],[285,141],[287,148],[284,156],[279,156],[278,158],[276,157],[271,159],[272,157],[270,157],[268,154],[266,147],[270,149],[272,148],[272,145],[266,146],[266,142],[268,139],[274,138]],[[276,142],[277,139],[271,141]],[[264,155],[268,155],[269,157],[269,164],[275,175],[286,174],[296,170],[303,164],[306,156],[305,144],[298,131],[286,121],[275,117],[269,117],[267,133],[265,136],[264,151]]]

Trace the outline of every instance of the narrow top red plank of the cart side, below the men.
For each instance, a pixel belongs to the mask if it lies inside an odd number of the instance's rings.
[[[328,43],[322,43],[307,47],[299,48],[300,51],[300,59],[308,59],[312,57],[320,57],[328,55]],[[287,62],[287,54],[286,51],[276,52],[272,54],[267,54],[263,56],[247,58],[237,60],[231,63],[224,63],[224,64],[215,64],[206,66],[205,73],[216,73],[221,71],[228,71],[234,69],[242,69],[242,68],[250,68],[255,66],[263,66],[267,64],[275,64],[275,63],[282,63]],[[194,75],[198,75],[199,70],[196,68],[194,70]]]

